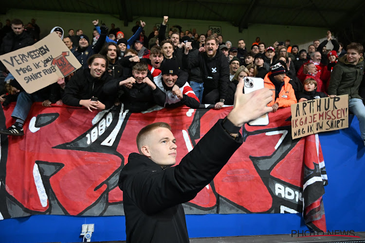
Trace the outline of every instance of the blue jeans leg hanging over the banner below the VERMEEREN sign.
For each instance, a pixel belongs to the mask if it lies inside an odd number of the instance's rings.
[[[42,101],[44,101],[44,99],[37,94],[28,94],[24,91],[20,92],[18,95],[17,104],[15,105],[14,111],[11,116],[25,121],[33,102]]]

